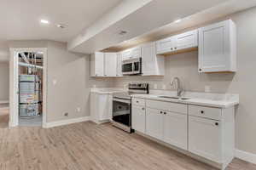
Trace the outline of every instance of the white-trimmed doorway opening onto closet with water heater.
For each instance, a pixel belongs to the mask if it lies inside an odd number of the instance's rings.
[[[9,127],[45,127],[47,48],[10,49]]]

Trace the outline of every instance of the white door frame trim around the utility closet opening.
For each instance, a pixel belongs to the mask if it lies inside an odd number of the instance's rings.
[[[46,127],[47,118],[47,48],[9,48],[9,127],[19,125],[19,59],[18,54],[22,52],[40,51],[43,57],[43,122],[42,127]]]

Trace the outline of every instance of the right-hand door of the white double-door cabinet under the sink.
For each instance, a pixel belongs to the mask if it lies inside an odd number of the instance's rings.
[[[188,150],[187,115],[164,112],[164,141],[183,150]]]

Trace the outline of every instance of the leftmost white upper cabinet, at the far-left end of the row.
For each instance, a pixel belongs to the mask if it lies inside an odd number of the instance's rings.
[[[96,52],[90,55],[90,76],[104,76],[104,53]]]

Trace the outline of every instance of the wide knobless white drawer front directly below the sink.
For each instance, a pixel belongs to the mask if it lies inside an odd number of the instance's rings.
[[[165,111],[173,111],[177,113],[187,114],[187,105],[183,104],[147,99],[146,106],[153,109],[160,109]]]

